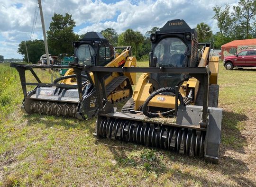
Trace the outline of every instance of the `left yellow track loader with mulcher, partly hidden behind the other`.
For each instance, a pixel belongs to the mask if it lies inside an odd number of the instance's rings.
[[[88,32],[78,42],[73,42],[74,64],[106,67],[136,67],[136,58],[131,56],[131,47],[115,47],[122,50],[119,55],[109,41],[100,33]],[[39,113],[55,116],[88,119],[98,112],[96,89],[92,73],[81,72],[81,93],[79,95],[76,75],[73,69],[66,71],[53,83],[42,83],[34,68],[66,69],[68,65],[22,65],[11,63],[18,70],[24,99],[22,110],[28,114]],[[37,83],[26,82],[25,71],[32,72]],[[110,72],[105,75],[106,95],[112,103],[132,95],[131,85],[136,83],[136,73]],[[36,86],[27,92],[27,85]]]

